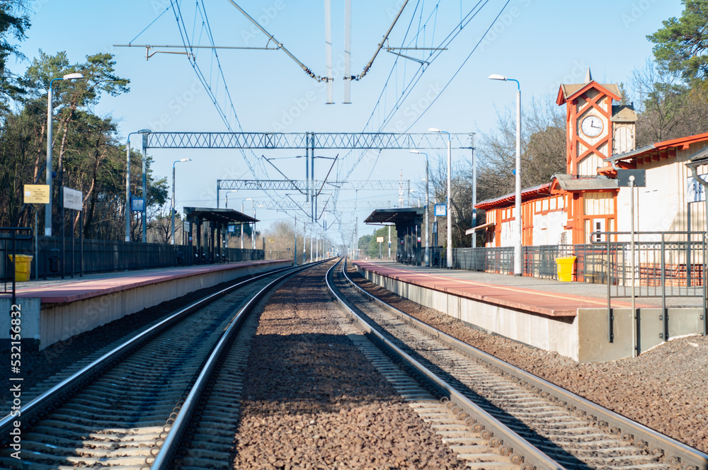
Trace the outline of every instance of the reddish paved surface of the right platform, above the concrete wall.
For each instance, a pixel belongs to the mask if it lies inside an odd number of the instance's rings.
[[[578,309],[603,309],[607,307],[607,299],[600,297],[583,297],[562,292],[548,292],[510,285],[494,285],[474,280],[456,279],[443,274],[431,274],[416,271],[414,268],[394,268],[390,265],[372,263],[370,261],[354,261],[360,268],[390,277],[412,285],[455,294],[460,297],[479,300],[488,304],[506,306],[511,309],[530,311],[546,316],[577,316]],[[445,273],[445,270],[440,270]],[[629,302],[612,301],[613,307],[627,307]],[[648,307],[636,303],[636,307]]]

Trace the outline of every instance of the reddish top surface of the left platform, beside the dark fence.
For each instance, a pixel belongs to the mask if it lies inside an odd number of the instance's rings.
[[[185,268],[167,268],[161,270],[151,270],[149,272],[135,271],[134,273],[115,273],[113,277],[101,277],[100,279],[67,280],[60,284],[40,285],[33,287],[21,287],[18,283],[16,296],[19,298],[40,298],[42,304],[59,304],[63,302],[76,302],[81,299],[89,299],[98,295],[110,294],[144,285],[165,282],[180,277],[203,275],[216,271],[229,270],[234,268],[247,268],[254,265],[269,263],[282,263],[287,260],[273,261],[244,261],[241,263],[228,263],[220,265],[198,265]],[[11,297],[11,294],[0,294],[0,297]]]

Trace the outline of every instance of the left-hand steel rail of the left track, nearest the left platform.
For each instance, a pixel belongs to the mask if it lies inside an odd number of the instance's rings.
[[[224,295],[233,292],[239,287],[251,284],[252,282],[259,280],[263,277],[293,269],[297,268],[291,266],[288,268],[280,268],[273,271],[269,271],[268,273],[253,276],[248,280],[241,281],[232,286],[226,287],[225,289],[220,290],[219,292],[210,294],[207,297],[204,297],[203,299],[193,302],[192,304],[185,306],[183,309],[176,311],[174,314],[171,314],[169,317],[160,321],[156,325],[148,328],[146,331],[143,331],[137,336],[130,338],[130,340],[127,340],[125,343],[122,343],[122,345],[118,345],[117,347],[113,348],[113,350],[106,352],[104,355],[98,357],[98,359],[91,362],[91,364],[86,365],[86,367],[62,380],[62,382],[59,382],[59,384],[52,386],[51,389],[45,391],[43,394],[33,399],[26,405],[23,405],[21,417],[14,416],[12,413],[6,415],[0,420],[0,436],[3,436],[3,438],[5,436],[8,436],[11,428],[13,427],[13,422],[16,420],[21,420],[24,422],[28,421],[30,425],[35,425],[38,422],[39,418],[43,418],[43,413],[46,413],[47,411],[52,411],[53,408],[58,408],[59,406],[61,406],[64,402],[68,401],[69,396],[75,394],[76,391],[79,391],[79,389],[81,389],[81,387],[85,384],[92,382],[93,379],[98,377],[98,375],[101,374],[101,372],[103,372],[105,369],[108,369],[109,367],[115,365],[115,363],[120,361],[123,357],[126,357],[135,349],[139,348],[140,345],[154,338],[159,333],[162,333],[178,321],[181,321],[181,319],[183,319],[185,316],[188,316],[193,312],[202,309],[207,304],[215,302],[215,300],[224,297]],[[25,424],[23,424],[23,426],[25,426]]]

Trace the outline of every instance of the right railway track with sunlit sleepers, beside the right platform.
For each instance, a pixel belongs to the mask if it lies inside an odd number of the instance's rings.
[[[498,360],[375,299],[348,279],[343,264],[328,275],[333,294],[368,338],[455,412],[445,421],[448,428],[441,423],[441,435],[453,449],[457,445],[458,457],[467,459],[470,466],[708,469],[707,454]],[[464,426],[459,426],[459,420]],[[445,430],[450,428],[476,431],[481,440],[462,447],[454,440],[450,442],[450,430]]]

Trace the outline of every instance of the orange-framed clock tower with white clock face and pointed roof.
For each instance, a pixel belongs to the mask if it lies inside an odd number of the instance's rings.
[[[598,84],[590,75],[586,83],[561,85],[556,103],[566,105],[566,171],[569,175],[595,176],[612,156],[612,100],[620,100],[615,84]]]

